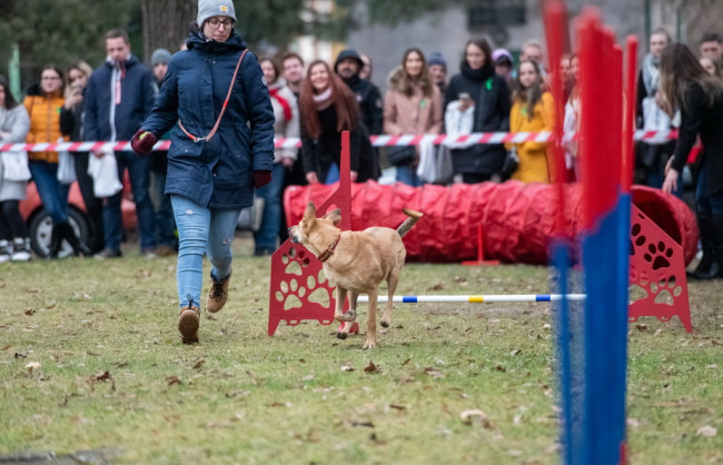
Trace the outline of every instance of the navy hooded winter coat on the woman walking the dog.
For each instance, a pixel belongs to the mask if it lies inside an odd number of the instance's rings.
[[[195,137],[214,128],[246,42],[236,31],[226,42],[207,41],[192,31],[188,50],[174,55],[156,105],[142,128],[162,136],[169,129],[166,194],[209,208],[240,209],[254,200],[255,170],[274,165],[274,108],[261,67],[250,51],[244,57],[220,126],[210,141]]]

